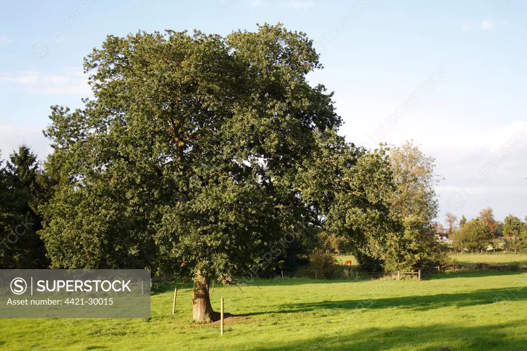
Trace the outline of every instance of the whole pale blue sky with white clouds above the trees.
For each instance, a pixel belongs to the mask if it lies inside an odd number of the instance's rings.
[[[107,34],[282,22],[315,41],[348,141],[414,140],[444,180],[440,218],[527,214],[527,2],[203,0],[18,2],[0,11],[0,149],[44,158],[50,105],[90,95],[83,57]]]

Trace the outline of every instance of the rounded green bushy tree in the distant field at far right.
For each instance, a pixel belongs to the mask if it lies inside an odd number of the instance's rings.
[[[482,250],[492,243],[491,230],[483,221],[471,220],[452,233],[452,241],[460,250]]]

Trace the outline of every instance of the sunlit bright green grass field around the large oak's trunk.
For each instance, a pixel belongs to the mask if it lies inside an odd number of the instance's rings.
[[[191,290],[154,291],[151,319],[0,319],[0,350],[519,350],[527,348],[527,274],[417,280],[260,280],[218,288],[239,317],[190,322]],[[170,289],[170,290],[169,290]]]

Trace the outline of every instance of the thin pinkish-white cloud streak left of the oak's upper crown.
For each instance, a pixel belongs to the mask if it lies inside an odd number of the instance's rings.
[[[74,67],[65,67],[62,74],[40,74],[35,71],[0,72],[0,89],[22,90],[44,94],[91,94],[87,75]]]

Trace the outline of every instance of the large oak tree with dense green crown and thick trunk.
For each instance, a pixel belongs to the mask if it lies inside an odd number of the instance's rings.
[[[217,318],[209,281],[247,275],[309,207],[295,184],[317,133],[341,121],[313,42],[280,24],[108,36],[85,59],[94,99],[54,106],[42,206],[54,268],[191,277],[193,319]]]

